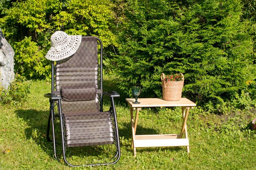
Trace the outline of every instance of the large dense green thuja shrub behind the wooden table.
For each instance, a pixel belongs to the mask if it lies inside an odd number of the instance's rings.
[[[239,0],[128,0],[116,57],[119,88],[162,97],[160,74],[183,73],[183,96],[218,107],[255,78],[252,36]]]

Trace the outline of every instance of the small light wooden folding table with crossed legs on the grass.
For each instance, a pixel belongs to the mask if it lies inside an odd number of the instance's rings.
[[[196,106],[195,103],[189,99],[181,98],[180,101],[166,101],[160,98],[139,98],[140,104],[133,104],[135,99],[126,99],[130,107],[131,124],[132,124],[132,148],[134,156],[136,157],[136,148],[142,147],[163,147],[163,146],[186,146],[189,153],[189,138],[186,128],[186,120],[189,115],[189,109]],[[143,107],[182,107],[183,124],[180,134],[168,135],[136,135],[136,127],[139,118],[139,110]],[[133,118],[133,111],[135,110],[135,119]],[[183,134],[185,138],[183,137]]]

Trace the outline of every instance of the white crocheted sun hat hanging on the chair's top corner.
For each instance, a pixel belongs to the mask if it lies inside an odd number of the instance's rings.
[[[59,61],[70,57],[78,49],[81,39],[81,35],[67,35],[63,31],[56,31],[51,36],[51,48],[45,55],[45,58]]]

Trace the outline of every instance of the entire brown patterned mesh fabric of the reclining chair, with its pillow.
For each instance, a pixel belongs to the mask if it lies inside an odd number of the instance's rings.
[[[97,39],[83,37],[71,57],[56,64],[56,90],[61,91],[61,110],[67,146],[112,144],[111,114],[100,112]]]

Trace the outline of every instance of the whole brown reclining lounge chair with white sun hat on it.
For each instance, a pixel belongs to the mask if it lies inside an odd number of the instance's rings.
[[[120,158],[120,144],[114,98],[119,97],[119,94],[115,91],[103,93],[101,40],[97,37],[67,35],[56,31],[51,37],[51,45],[46,58],[52,60],[52,93],[44,96],[50,102],[47,139],[51,141],[49,129],[52,124],[54,157],[58,159],[58,130],[54,126],[56,117],[59,117],[62,156],[67,165],[95,166],[116,163]],[[109,111],[103,111],[103,95],[110,97]],[[74,165],[66,158],[67,148],[99,145],[111,146],[114,150],[110,162]],[[83,149],[79,148],[76,151],[81,150]]]

